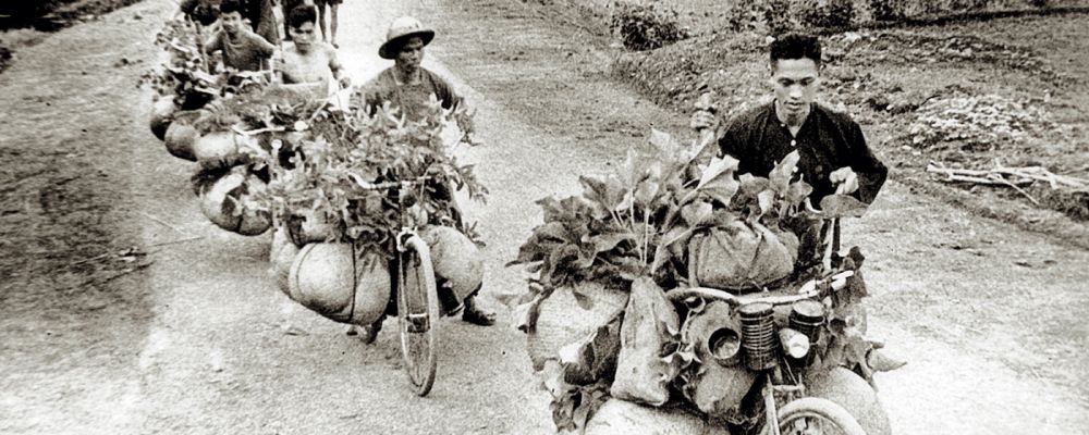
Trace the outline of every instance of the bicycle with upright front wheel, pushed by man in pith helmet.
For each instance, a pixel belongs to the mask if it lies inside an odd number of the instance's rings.
[[[438,368],[439,294],[435,282],[430,248],[416,233],[420,223],[411,212],[416,207],[403,208],[409,189],[419,187],[423,192],[427,177],[415,181],[367,183],[356,179],[365,190],[396,188],[396,200],[402,206],[401,231],[396,240],[396,270],[393,293],[396,298],[397,332],[401,337],[401,356],[413,391],[424,397],[431,391]],[[424,220],[426,223],[426,220]],[[381,322],[381,320],[379,320]]]

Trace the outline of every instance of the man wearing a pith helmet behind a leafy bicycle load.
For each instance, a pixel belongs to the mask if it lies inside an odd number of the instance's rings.
[[[444,109],[462,103],[450,83],[420,66],[424,47],[435,39],[435,30],[427,28],[418,20],[402,16],[390,24],[386,42],[378,48],[378,55],[393,60],[393,66],[386,69],[364,87],[365,103],[372,108],[389,101],[397,108],[407,121],[418,121],[427,110],[433,94]]]

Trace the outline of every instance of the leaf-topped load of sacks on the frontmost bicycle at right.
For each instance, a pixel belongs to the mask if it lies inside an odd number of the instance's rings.
[[[820,275],[822,254],[834,257],[836,272],[856,274],[823,301],[831,314],[819,325],[824,334],[809,370],[865,363],[871,344],[857,324],[861,256],[855,249],[841,259],[811,235],[824,220],[865,206],[834,195],[820,212],[807,208],[810,186],[792,181],[797,152],[758,177],[738,176],[735,159],[709,159],[706,150],[654,130],[615,173],[582,176],[580,195],[537,201],[543,223],[509,265],[536,273],[513,304],[553,396],[558,428],[652,432],[665,424],[705,433],[711,417],[751,427],[757,410],[742,398],[756,375],[737,356],[715,362],[729,347],[715,334],[741,328],[732,324],[736,310],[700,298],[675,306],[668,295],[697,285],[755,295],[790,287]]]

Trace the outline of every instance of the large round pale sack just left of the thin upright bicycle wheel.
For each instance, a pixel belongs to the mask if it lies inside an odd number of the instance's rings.
[[[370,325],[390,301],[389,262],[352,244],[303,247],[287,274],[287,297],[334,322]]]

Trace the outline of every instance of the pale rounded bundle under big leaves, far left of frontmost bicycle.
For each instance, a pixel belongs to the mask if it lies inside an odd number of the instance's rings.
[[[578,304],[572,287],[556,288],[541,301],[540,315],[526,341],[534,370],[543,369],[546,360],[559,358],[556,352],[561,347],[604,326],[627,306],[627,291],[597,283],[579,283],[576,287],[592,301],[590,309]]]

